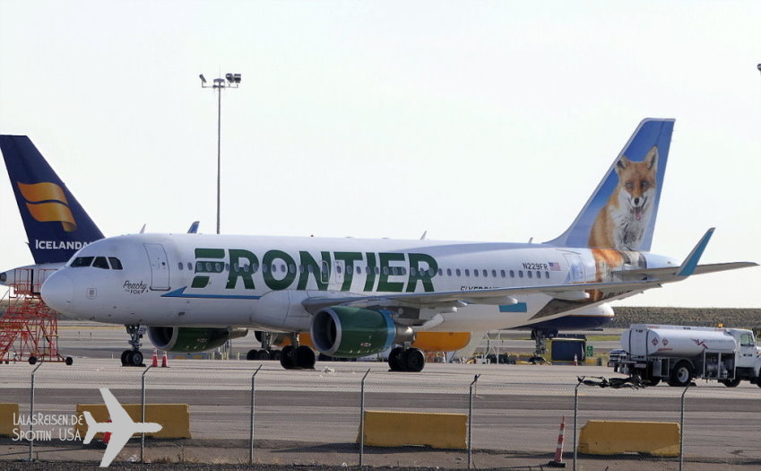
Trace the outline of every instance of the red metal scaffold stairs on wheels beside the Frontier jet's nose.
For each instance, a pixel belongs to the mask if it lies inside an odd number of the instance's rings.
[[[58,352],[58,313],[48,308],[39,288],[55,270],[14,270],[8,307],[0,318],[0,362],[65,362]]]

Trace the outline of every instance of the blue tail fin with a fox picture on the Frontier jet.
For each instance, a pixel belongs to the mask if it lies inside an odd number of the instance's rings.
[[[549,245],[650,250],[674,119],[646,118],[571,226]]]

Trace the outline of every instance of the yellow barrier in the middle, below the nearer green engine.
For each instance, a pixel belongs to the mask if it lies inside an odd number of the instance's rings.
[[[467,449],[467,414],[365,411],[365,444]],[[359,434],[357,436],[359,443]]]

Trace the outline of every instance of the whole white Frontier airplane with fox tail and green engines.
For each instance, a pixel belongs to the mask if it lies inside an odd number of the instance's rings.
[[[290,335],[286,369],[314,367],[299,344],[308,333],[333,357],[399,345],[391,369],[420,371],[419,336],[551,326],[690,275],[756,266],[698,265],[713,229],[683,261],[649,252],[673,126],[644,119],[548,242],[125,235],[79,250],[42,298],[75,318],[149,326],[165,350],[206,350],[255,327]],[[122,354],[123,364],[142,361],[136,348]]]

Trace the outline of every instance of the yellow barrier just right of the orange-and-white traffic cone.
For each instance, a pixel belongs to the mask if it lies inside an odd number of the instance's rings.
[[[579,436],[579,453],[615,455],[648,453],[679,456],[679,423],[589,421]]]

